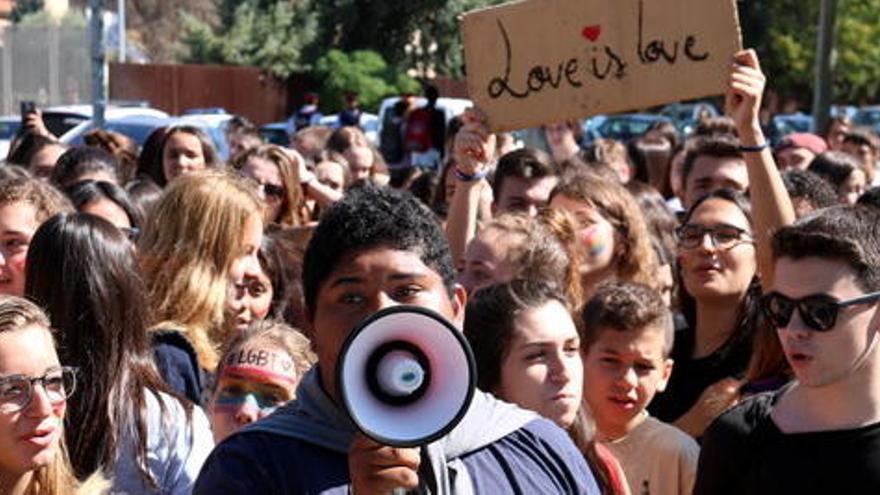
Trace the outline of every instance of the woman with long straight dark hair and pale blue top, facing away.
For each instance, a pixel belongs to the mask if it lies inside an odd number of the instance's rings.
[[[131,243],[102,218],[57,215],[34,234],[28,261],[25,292],[52,315],[61,360],[79,369],[65,432],[76,476],[103,473],[113,492],[189,493],[210,427],[153,363]]]

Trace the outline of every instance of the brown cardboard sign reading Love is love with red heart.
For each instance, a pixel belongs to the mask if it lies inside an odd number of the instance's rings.
[[[723,93],[742,46],[736,0],[525,0],[461,29],[496,131]]]

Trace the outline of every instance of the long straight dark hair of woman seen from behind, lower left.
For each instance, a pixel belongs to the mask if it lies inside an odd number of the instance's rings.
[[[174,394],[153,362],[132,244],[102,218],[60,214],[34,234],[27,266],[25,294],[49,313],[61,362],[80,370],[65,436],[77,477],[110,472],[122,439],[133,434],[138,470],[155,488],[147,468],[147,394],[163,415],[159,392]],[[181,402],[189,421],[192,406]]]

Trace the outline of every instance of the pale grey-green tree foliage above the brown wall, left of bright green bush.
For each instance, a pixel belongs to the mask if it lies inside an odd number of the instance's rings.
[[[185,17],[187,61],[253,65],[282,78],[309,67],[305,51],[315,39],[318,23],[310,0],[224,1],[218,14],[217,29]]]

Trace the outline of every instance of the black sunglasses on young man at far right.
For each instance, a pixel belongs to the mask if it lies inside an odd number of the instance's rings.
[[[788,326],[791,315],[797,308],[804,325],[817,332],[827,332],[834,328],[837,323],[837,313],[842,308],[873,303],[877,300],[880,300],[880,292],[871,292],[845,301],[828,294],[811,294],[800,299],[792,299],[778,292],[771,292],[761,298],[761,307],[776,328]]]

